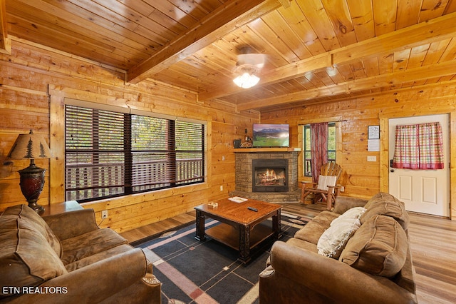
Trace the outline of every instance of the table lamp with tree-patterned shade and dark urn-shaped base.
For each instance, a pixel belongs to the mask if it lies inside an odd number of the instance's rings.
[[[19,134],[11,151],[8,154],[13,159],[30,159],[30,166],[19,170],[21,176],[21,191],[28,202],[28,207],[33,208],[36,213],[44,211],[43,206],[36,203],[43,191],[44,173],[46,169],[38,168],[35,165],[35,158],[51,158],[51,150],[43,136],[33,134]]]

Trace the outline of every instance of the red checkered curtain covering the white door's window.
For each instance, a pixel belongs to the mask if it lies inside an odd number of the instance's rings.
[[[396,126],[393,168],[442,169],[443,142],[440,123]]]

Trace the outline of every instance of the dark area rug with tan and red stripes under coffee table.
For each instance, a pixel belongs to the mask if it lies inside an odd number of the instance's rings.
[[[307,219],[292,214],[281,216],[282,236],[288,240]],[[218,221],[207,219],[209,228]],[[195,240],[195,223],[137,245],[154,264],[162,282],[162,303],[258,303],[259,273],[266,267],[274,240],[244,265],[237,250],[212,240]]]

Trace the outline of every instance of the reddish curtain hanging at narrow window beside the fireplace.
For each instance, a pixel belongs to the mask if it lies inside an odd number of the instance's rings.
[[[321,166],[328,162],[328,123],[311,123],[312,181],[318,182]]]

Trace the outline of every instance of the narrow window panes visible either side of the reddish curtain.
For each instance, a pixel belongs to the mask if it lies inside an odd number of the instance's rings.
[[[323,143],[326,145],[324,147],[323,153],[326,153],[327,161],[336,161],[336,123],[327,123],[327,136],[324,136],[327,138],[326,143]],[[305,125],[304,126],[304,138],[303,138],[303,157],[304,157],[304,176],[313,176],[314,173],[312,173],[312,162],[313,162],[313,156],[312,156],[312,143],[316,143],[312,141],[312,136],[311,136],[311,125]],[[318,136],[314,136],[318,137]],[[318,171],[318,168],[316,168]]]

